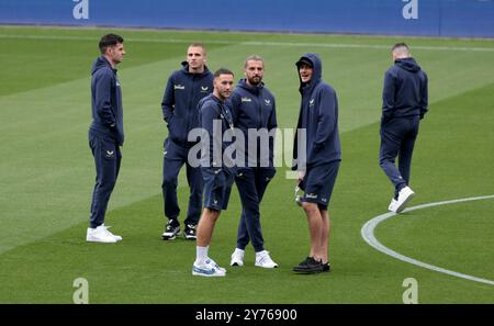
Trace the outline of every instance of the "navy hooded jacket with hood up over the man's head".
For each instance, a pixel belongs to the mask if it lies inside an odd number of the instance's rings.
[[[311,81],[302,82],[300,79],[299,91],[302,95],[300,105],[297,131],[306,131],[306,157],[297,158],[299,132],[295,133],[293,145],[293,170],[305,170],[327,162],[341,160],[341,147],[338,134],[338,99],[336,92],[322,80],[323,67],[316,54],[304,54],[301,59],[312,63],[313,75]]]

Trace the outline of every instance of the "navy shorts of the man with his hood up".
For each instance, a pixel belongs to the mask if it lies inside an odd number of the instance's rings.
[[[338,175],[339,160],[308,168],[300,188],[304,190],[302,202],[316,203],[321,210],[327,211]]]

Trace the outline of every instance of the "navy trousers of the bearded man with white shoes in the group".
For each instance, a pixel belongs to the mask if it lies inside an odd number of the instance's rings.
[[[237,231],[238,249],[245,250],[249,240],[256,252],[265,249],[259,205],[274,173],[273,168],[245,168],[237,171],[235,183],[242,201],[242,214]]]

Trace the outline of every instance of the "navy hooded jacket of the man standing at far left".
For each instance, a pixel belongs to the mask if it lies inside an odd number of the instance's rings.
[[[98,57],[91,69],[92,122],[90,135],[100,135],[123,145],[123,108],[116,69],[104,56]]]

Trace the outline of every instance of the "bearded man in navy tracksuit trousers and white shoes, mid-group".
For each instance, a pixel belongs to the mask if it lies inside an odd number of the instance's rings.
[[[242,200],[242,214],[231,266],[244,266],[244,250],[251,241],[256,251],[255,266],[278,267],[269,251],[265,250],[259,212],[262,195],[276,173],[273,137],[269,137],[269,133],[274,133],[277,128],[276,103],[274,97],[262,82],[263,69],[261,57],[247,57],[244,67],[246,78],[237,83],[228,99],[234,125],[242,131],[245,139],[244,148],[239,148],[244,151],[245,159],[235,177]],[[252,131],[262,132],[263,142],[260,137],[249,137]]]

